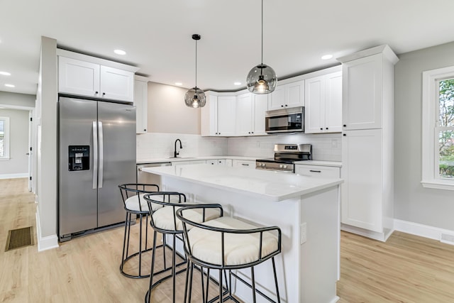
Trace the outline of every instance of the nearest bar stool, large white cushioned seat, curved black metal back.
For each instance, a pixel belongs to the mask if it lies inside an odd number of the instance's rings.
[[[218,218],[205,222],[196,222],[191,218],[191,212],[208,211],[216,209]],[[196,206],[185,206],[177,209],[177,219],[182,221],[184,231],[184,252],[188,258],[187,280],[184,288],[184,302],[191,302],[192,294],[192,272],[194,265],[206,268],[206,291],[202,283],[202,296],[204,302],[223,302],[233,297],[231,285],[232,277],[245,283],[253,290],[253,302],[256,302],[256,292],[270,302],[276,302],[260,290],[255,289],[254,266],[272,260],[272,270],[275,279],[277,302],[280,302],[279,286],[275,265],[275,255],[281,253],[281,230],[277,226],[258,227],[240,219],[223,216],[223,209],[220,204],[199,204]],[[232,270],[250,268],[251,283],[238,277]],[[208,299],[208,284],[210,269],[219,270],[219,294]],[[223,294],[223,272],[228,270],[229,281],[226,281],[228,295]],[[202,270],[203,272],[203,270]],[[205,292],[205,293],[204,293]],[[188,299],[188,300],[187,300]]]

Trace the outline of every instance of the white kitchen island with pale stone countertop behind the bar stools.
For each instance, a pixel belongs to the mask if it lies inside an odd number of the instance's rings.
[[[282,230],[277,277],[282,302],[338,301],[339,201],[341,179],[218,165],[144,168],[163,177],[163,190],[187,194],[189,202],[218,203],[229,216]],[[245,280],[250,270],[241,270]],[[270,263],[256,267],[258,290],[275,298]],[[251,290],[236,283],[235,294],[252,302]],[[258,296],[258,302],[265,302]]]

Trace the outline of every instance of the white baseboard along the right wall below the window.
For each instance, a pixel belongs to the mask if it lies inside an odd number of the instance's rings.
[[[454,245],[454,231],[449,229],[394,219],[394,230]]]

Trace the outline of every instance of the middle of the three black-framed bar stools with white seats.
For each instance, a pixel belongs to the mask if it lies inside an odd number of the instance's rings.
[[[153,227],[153,252],[151,258],[151,270],[150,270],[150,285],[148,287],[148,291],[145,294],[145,302],[149,303],[151,298],[151,292],[154,287],[159,285],[161,282],[169,279],[172,277],[172,302],[175,302],[175,277],[177,274],[184,272],[186,268],[179,270],[177,272],[177,268],[180,265],[187,263],[186,257],[180,255],[181,258],[184,260],[177,264],[176,257],[177,257],[177,250],[176,250],[176,241],[177,238],[180,241],[183,241],[183,228],[182,228],[182,221],[177,219],[175,215],[175,211],[177,209],[182,208],[182,206],[187,205],[198,205],[198,204],[188,204],[186,201],[186,196],[179,192],[153,192],[149,194],[145,194],[143,198],[148,202],[148,209],[150,209],[150,225]],[[191,211],[188,215],[191,217],[192,220],[196,222],[202,222],[209,219],[216,218],[216,211],[205,211],[205,210],[198,210],[195,209]],[[164,268],[158,272],[155,272],[155,256],[156,256],[156,248],[160,246],[156,246],[156,238],[157,233],[162,234],[163,239],[163,255],[165,255],[165,248],[167,244],[165,243],[166,236],[172,236],[172,265],[167,267],[164,259]],[[157,280],[153,283],[153,277],[155,275],[159,275],[162,272],[166,272],[170,270],[170,274],[162,277],[160,280]]]

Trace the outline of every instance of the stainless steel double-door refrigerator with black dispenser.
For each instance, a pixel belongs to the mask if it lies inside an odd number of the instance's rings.
[[[125,221],[118,184],[135,182],[135,107],[60,97],[60,241]]]

